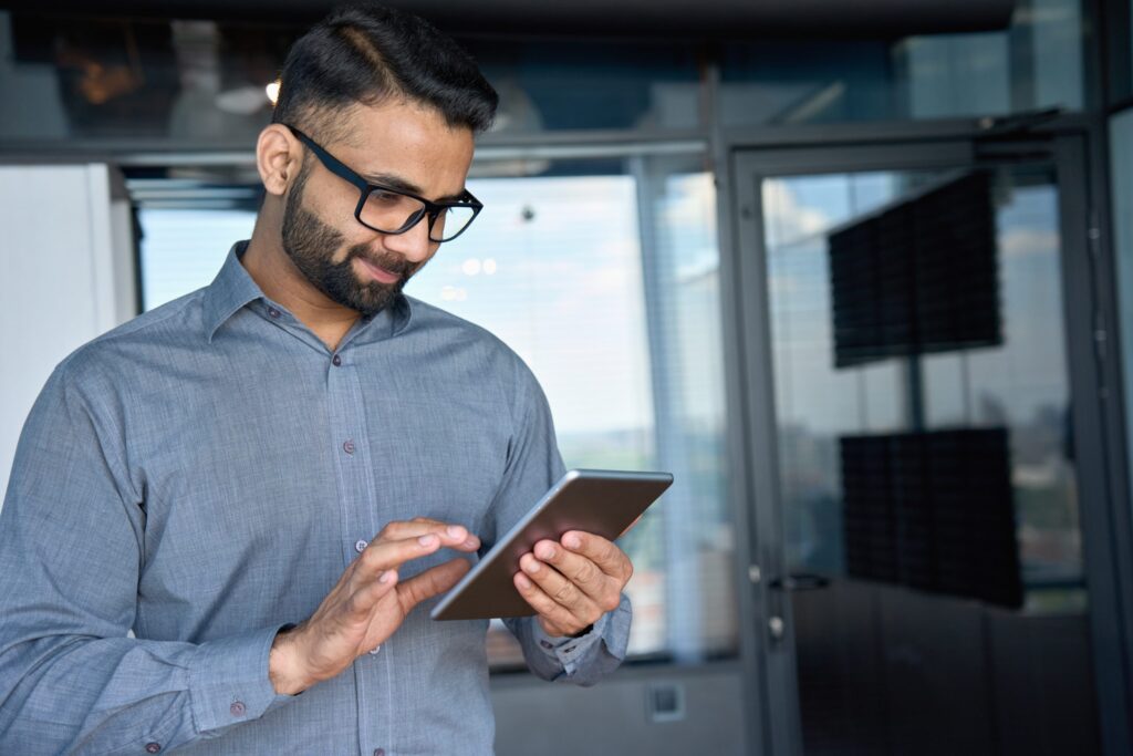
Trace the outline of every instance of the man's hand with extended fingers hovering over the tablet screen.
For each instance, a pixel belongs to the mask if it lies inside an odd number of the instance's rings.
[[[275,693],[295,695],[329,680],[385,643],[418,603],[454,586],[471,568],[453,559],[398,583],[398,568],[441,547],[475,552],[460,525],[418,517],[390,523],[339,578],[309,619],[275,636],[267,671]]]

